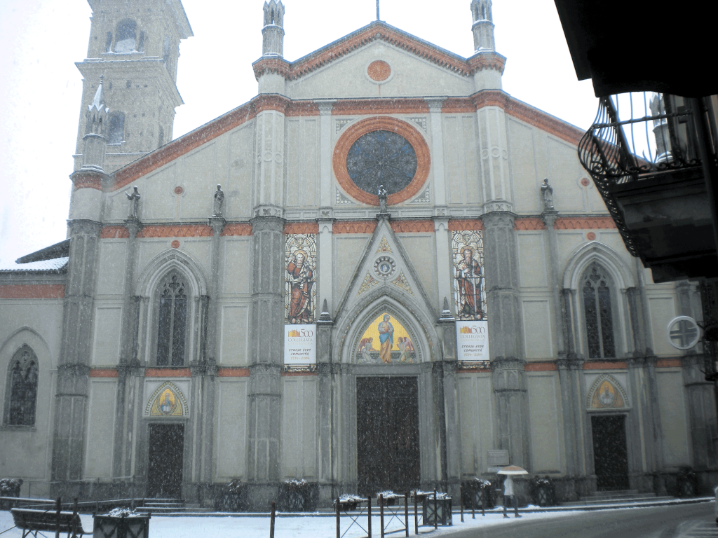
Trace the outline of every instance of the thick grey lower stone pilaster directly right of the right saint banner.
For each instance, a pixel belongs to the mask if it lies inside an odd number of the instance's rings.
[[[510,212],[490,212],[483,217],[489,352],[496,402],[494,442],[496,448],[508,450],[512,465],[528,470],[528,407],[513,220]]]

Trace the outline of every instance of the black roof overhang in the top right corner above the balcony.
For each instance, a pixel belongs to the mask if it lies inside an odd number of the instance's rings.
[[[707,10],[675,1],[554,0],[579,80],[597,97],[655,91],[718,93],[708,75],[715,22]]]

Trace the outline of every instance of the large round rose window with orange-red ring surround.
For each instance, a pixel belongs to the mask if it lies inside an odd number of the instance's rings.
[[[349,126],[337,141],[332,159],[340,187],[359,202],[379,204],[378,188],[387,204],[414,197],[429,176],[429,146],[405,121],[378,116]]]

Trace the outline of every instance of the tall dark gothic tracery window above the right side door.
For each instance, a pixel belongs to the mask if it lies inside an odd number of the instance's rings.
[[[581,291],[589,359],[615,357],[610,280],[597,263],[592,263],[584,273]]]

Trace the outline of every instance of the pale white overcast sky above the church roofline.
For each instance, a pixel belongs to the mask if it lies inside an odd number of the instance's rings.
[[[106,0],[111,1],[111,0]],[[174,138],[256,95],[264,0],[182,0],[194,37],[180,45]],[[286,0],[293,61],[376,18],[374,0]],[[458,55],[473,52],[470,0],[381,0],[381,19]],[[71,158],[92,11],[86,0],[0,0],[0,263],[66,237]],[[553,0],[495,0],[497,52],[513,97],[588,128],[597,100],[577,82]]]

